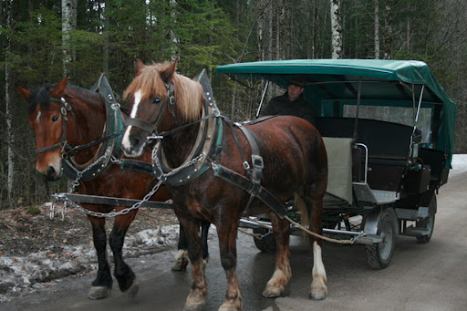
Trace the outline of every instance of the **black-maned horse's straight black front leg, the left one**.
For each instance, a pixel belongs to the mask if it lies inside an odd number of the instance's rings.
[[[98,276],[92,282],[88,297],[90,299],[102,299],[110,294],[112,289],[112,275],[107,254],[107,235],[105,231],[105,219],[88,216],[92,228],[92,238],[96,253],[98,254]]]

